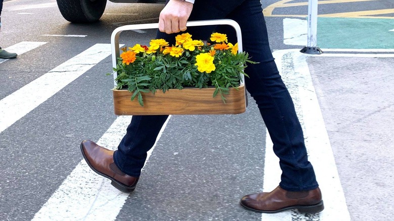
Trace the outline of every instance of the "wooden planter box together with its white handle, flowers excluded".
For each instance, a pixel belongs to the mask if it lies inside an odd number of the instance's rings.
[[[238,51],[242,51],[242,36],[239,25],[232,20],[208,20],[190,21],[187,26],[206,25],[229,25],[235,29],[238,39]],[[112,65],[117,67],[119,57],[119,35],[122,31],[136,29],[157,29],[158,23],[125,25],[116,28],[111,35]],[[114,73],[114,85],[117,83]],[[242,76],[243,78],[243,76]],[[243,81],[244,82],[244,81]],[[225,95],[226,103],[220,94],[212,97],[215,88],[184,88],[170,89],[163,93],[142,93],[144,106],[139,105],[137,98],[130,100],[131,93],[128,90],[113,90],[115,115],[230,115],[244,113],[247,107],[245,98],[245,86],[242,84],[237,89],[230,88],[229,94]]]

